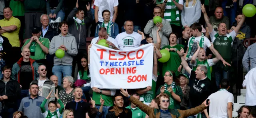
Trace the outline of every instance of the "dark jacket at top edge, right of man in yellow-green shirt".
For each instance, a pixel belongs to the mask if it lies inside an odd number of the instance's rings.
[[[24,0],[25,12],[40,12],[46,10],[46,0]]]

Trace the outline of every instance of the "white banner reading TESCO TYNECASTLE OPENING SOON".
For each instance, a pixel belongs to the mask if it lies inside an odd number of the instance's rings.
[[[90,76],[92,87],[136,89],[152,86],[152,44],[120,51],[92,44]]]

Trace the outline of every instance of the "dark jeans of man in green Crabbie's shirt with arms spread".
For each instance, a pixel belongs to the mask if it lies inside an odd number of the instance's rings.
[[[216,86],[217,88],[220,88],[220,81],[222,79],[228,79],[228,71],[220,69],[218,68],[218,66],[213,66],[213,68],[214,68],[214,76],[216,79]],[[224,68],[224,66],[222,68]]]

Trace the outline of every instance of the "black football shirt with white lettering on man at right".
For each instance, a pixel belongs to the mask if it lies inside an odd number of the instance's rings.
[[[211,81],[209,78],[205,78],[203,80],[196,79],[196,73],[194,70],[191,70],[190,72],[190,78],[193,83],[190,86],[190,107],[194,108],[196,106],[199,106],[208,98],[208,96],[211,94]]]

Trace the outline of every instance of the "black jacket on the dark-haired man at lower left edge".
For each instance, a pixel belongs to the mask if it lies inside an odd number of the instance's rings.
[[[10,80],[5,84],[4,78],[0,80],[0,96],[6,95],[8,97],[7,100],[2,100],[2,106],[4,108],[16,108],[16,101],[20,98],[20,84],[17,80]]]

